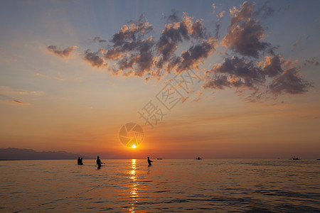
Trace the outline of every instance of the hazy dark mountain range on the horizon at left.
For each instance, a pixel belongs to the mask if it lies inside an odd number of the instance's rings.
[[[0,148],[0,160],[75,160],[78,156],[92,159],[87,156],[65,151],[43,151],[38,152],[26,148]]]

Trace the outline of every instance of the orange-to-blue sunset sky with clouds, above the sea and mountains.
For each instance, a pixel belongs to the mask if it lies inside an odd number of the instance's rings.
[[[320,158],[319,8],[318,0],[0,1],[0,148]],[[168,85],[180,95],[170,110],[159,100]],[[148,103],[157,107],[153,129],[138,113]],[[130,122],[144,131],[135,149],[119,141]]]

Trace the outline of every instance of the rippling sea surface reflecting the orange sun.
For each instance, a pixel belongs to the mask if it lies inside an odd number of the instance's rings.
[[[0,161],[0,212],[320,212],[320,160],[83,162]]]

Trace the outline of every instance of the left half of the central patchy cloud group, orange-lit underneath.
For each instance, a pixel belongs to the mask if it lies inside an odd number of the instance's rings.
[[[105,59],[115,62],[112,72],[141,77],[151,70],[154,66],[154,40],[152,36],[146,36],[153,29],[146,18],[141,16],[139,21],[130,21],[112,36],[112,45],[104,54]]]

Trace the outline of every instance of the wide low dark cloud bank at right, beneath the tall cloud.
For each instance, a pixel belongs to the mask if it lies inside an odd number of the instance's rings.
[[[287,67],[283,70],[282,67]],[[269,84],[269,82],[271,82]],[[262,62],[255,63],[245,58],[225,58],[206,72],[208,89],[249,89],[252,92],[247,100],[260,99],[262,94],[302,94],[312,85],[299,75],[297,67],[290,60],[283,60],[279,55],[266,56]]]

